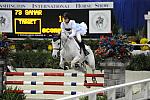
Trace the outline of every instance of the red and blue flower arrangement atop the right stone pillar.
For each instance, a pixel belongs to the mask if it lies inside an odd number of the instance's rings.
[[[117,34],[110,37],[100,37],[99,47],[95,54],[101,61],[109,57],[126,61],[131,57],[132,50],[133,46],[128,44],[126,35]]]

